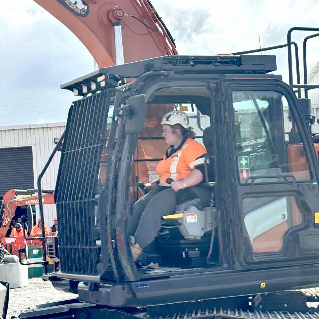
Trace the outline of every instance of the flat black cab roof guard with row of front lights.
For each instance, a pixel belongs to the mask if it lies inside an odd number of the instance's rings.
[[[277,69],[273,55],[167,55],[158,58],[100,68],[61,85],[74,95],[116,87],[123,78],[138,78],[151,71],[184,74],[266,74]]]

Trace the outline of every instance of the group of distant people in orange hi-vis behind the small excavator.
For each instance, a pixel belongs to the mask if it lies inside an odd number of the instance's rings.
[[[22,221],[23,220],[23,221]],[[6,237],[20,237],[20,236],[31,236],[31,237],[42,237],[42,223],[41,218],[37,219],[37,224],[32,227],[31,232],[25,218],[13,219],[10,228],[8,229]],[[45,236],[56,236],[58,234],[58,218],[53,217],[53,225],[48,229],[47,225],[44,225]],[[10,233],[9,233],[10,232]]]

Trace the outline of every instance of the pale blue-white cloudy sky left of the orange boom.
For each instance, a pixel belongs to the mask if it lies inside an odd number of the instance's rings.
[[[63,24],[31,0],[5,2],[0,12],[0,125],[66,121],[73,94],[60,84],[94,70],[93,58]],[[43,104],[25,104],[33,101]],[[34,111],[34,114],[24,114]],[[36,113],[37,112],[37,113]],[[4,116],[13,114],[13,116]],[[2,116],[1,116],[2,115]]]

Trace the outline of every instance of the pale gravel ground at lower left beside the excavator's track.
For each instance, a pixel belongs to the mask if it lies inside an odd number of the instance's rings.
[[[35,309],[38,304],[72,298],[76,295],[56,290],[50,281],[32,278],[28,286],[10,289],[7,318],[17,317],[27,308]]]

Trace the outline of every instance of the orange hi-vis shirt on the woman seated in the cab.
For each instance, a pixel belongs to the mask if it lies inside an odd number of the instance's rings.
[[[202,144],[188,138],[179,150],[168,158],[164,155],[163,160],[157,164],[156,173],[160,176],[160,182],[166,183],[167,178],[182,180],[195,169],[196,165],[204,163],[204,157],[199,157],[206,153]]]

